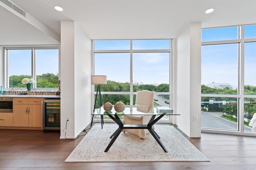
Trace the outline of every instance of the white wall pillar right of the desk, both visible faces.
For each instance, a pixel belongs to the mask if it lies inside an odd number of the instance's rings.
[[[188,137],[201,137],[201,23],[179,33],[176,57],[176,123]]]

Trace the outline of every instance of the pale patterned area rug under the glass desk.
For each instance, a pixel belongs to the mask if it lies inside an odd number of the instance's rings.
[[[130,133],[121,133],[108,152],[110,136],[117,126],[92,127],[72,151],[65,162],[159,162],[159,161],[209,161],[194,145],[172,126],[155,128],[168,150],[164,152],[150,133],[146,139]]]

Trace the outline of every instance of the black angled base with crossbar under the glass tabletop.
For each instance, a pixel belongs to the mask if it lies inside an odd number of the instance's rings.
[[[119,125],[118,129],[110,136],[110,138],[112,138],[112,140],[110,141],[110,143],[108,144],[108,147],[105,149],[104,152],[108,152],[108,150],[110,149],[110,147],[113,145],[113,143],[116,141],[117,137],[120,135],[120,133],[123,131],[123,129],[148,129],[148,131],[151,133],[151,135],[154,137],[154,139],[157,141],[157,143],[160,145],[160,147],[162,147],[162,149],[164,150],[164,152],[168,152],[168,150],[164,147],[164,145],[162,144],[162,142],[160,141],[160,137],[158,136],[158,134],[154,131],[154,129],[152,129],[152,126],[159,120],[161,119],[164,115],[166,115],[166,113],[162,113],[161,115],[159,115],[156,119],[156,115],[152,115],[150,121],[148,122],[147,125],[124,125],[122,123],[122,121],[120,120],[120,118],[118,117],[117,114],[111,115],[108,112],[105,112],[108,117],[110,117],[112,120],[114,120],[116,122],[116,124]]]

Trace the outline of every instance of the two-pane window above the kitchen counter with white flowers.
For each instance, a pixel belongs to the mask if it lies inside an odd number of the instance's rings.
[[[5,48],[4,88],[25,88],[23,78],[33,78],[34,88],[58,88],[58,47]]]

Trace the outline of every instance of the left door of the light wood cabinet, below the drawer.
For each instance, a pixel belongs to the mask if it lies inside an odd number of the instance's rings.
[[[13,105],[13,126],[28,127],[28,105],[14,104]]]

